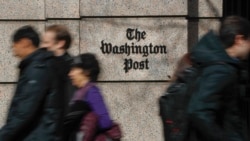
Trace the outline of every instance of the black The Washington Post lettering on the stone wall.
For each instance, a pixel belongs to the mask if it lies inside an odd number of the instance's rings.
[[[127,39],[131,41],[137,41],[138,43],[140,40],[145,40],[146,35],[146,31],[140,31],[137,28],[128,28],[126,30]],[[167,47],[165,45],[154,45],[152,43],[141,45],[138,43],[132,42],[122,45],[114,45],[110,42],[102,40],[100,49],[103,54],[125,54],[128,57],[130,54],[139,54],[142,57],[145,57],[143,60],[134,60],[133,58],[124,59],[123,69],[125,73],[129,72],[130,70],[148,70],[150,67],[147,57],[150,54],[167,54]]]

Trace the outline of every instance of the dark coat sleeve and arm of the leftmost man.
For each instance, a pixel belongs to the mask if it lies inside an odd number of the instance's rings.
[[[21,91],[17,91],[18,105],[15,105],[14,113],[0,130],[1,141],[12,141],[12,138],[22,134],[28,129],[27,127],[33,124],[37,114],[41,112],[39,109],[42,108],[49,85],[46,69],[31,68],[26,76],[19,83],[22,88]]]

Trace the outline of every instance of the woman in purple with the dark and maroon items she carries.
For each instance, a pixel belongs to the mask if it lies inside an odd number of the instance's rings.
[[[94,54],[84,53],[74,58],[69,77],[78,89],[70,103],[71,112],[66,116],[65,141],[119,141],[121,138],[119,126],[111,120],[102,93],[95,84],[99,72]],[[81,114],[75,118],[76,113]]]

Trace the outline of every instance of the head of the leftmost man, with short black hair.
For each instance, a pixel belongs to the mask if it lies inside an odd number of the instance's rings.
[[[38,32],[30,25],[23,26],[12,35],[13,54],[24,59],[38,48],[39,43]]]

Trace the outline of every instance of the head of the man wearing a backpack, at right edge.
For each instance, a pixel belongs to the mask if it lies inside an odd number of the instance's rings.
[[[250,23],[239,16],[224,19],[219,37],[231,57],[246,59],[250,53]]]

